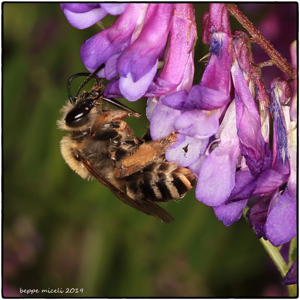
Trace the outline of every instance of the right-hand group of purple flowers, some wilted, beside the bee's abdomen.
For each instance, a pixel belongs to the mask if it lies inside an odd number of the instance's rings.
[[[259,238],[283,244],[296,235],[296,131],[289,118],[289,85],[274,79],[265,89],[250,38],[231,34],[225,4],[210,4],[202,24],[210,56],[201,82],[161,99],[151,115],[151,135],[180,133],[166,157],[193,170],[196,198],[224,225],[239,220],[248,200],[259,196],[248,221]],[[162,118],[168,118],[167,127],[158,122]]]

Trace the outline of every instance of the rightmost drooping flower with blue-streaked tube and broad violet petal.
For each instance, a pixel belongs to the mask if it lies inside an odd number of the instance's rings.
[[[274,246],[288,242],[297,234],[296,132],[292,131],[295,122],[289,122],[289,107],[282,106],[289,101],[290,95],[283,79],[271,82],[270,110],[274,117],[272,169],[263,171],[259,177],[267,171],[273,174],[265,178],[265,185],[260,190],[256,186],[252,193],[254,196],[264,192],[269,196],[262,197],[247,211],[248,222],[257,237],[268,239]],[[256,182],[258,185],[258,180]],[[286,182],[284,190],[279,190]]]

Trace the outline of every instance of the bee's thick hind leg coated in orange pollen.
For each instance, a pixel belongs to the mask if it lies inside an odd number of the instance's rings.
[[[175,132],[172,132],[166,138],[149,144],[142,144],[136,152],[122,160],[122,169],[116,170],[115,176],[119,178],[129,176],[160,157],[176,142],[175,134]]]

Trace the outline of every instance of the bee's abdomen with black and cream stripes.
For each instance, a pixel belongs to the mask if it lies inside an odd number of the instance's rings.
[[[163,202],[182,198],[195,176],[173,163],[152,163],[126,179],[126,193],[133,199]]]

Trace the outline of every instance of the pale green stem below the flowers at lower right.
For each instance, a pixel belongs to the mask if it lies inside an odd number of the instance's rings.
[[[249,209],[248,206],[245,207],[243,211],[243,216],[247,221],[246,213]],[[279,249],[280,247],[274,247],[269,241],[265,241],[263,238],[260,238],[259,241],[262,243],[262,246],[265,248],[271,259],[273,260],[274,264],[276,265],[278,271],[280,272],[281,276],[284,277],[286,272],[289,270],[289,266],[286,265]],[[297,295],[297,285],[287,285],[287,288],[289,290],[289,295],[296,296]]]

